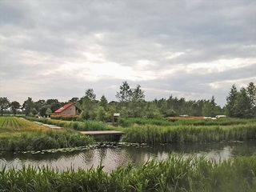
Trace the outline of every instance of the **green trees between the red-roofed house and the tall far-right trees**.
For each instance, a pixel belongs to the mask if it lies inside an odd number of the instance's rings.
[[[162,98],[152,102],[145,101],[141,86],[131,88],[128,82],[122,82],[116,94],[118,102],[107,102],[106,97],[97,101],[94,90],[86,90],[83,98],[73,98],[82,109],[82,118],[109,121],[115,112],[123,118],[164,118],[188,114],[193,116],[211,116],[224,114],[222,107],[217,106],[215,98],[210,100],[186,101],[185,98]]]

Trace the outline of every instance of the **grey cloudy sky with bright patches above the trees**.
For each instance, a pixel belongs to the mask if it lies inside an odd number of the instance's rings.
[[[256,82],[256,1],[0,1],[0,97],[114,100],[123,81],[223,105]]]

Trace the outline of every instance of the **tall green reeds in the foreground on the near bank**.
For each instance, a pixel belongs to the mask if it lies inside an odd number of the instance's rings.
[[[204,158],[171,155],[163,162],[124,166],[106,174],[90,170],[54,171],[23,167],[0,171],[3,191],[255,191],[256,157],[217,164]]]

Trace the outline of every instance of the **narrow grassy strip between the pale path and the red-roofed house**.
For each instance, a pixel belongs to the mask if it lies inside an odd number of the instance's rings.
[[[35,122],[42,122],[45,124],[50,124],[54,126],[61,126],[66,127],[74,130],[109,130],[110,127],[107,126],[104,122],[97,122],[97,121],[84,121],[84,122],[70,122],[70,121],[63,121],[63,120],[56,120],[50,118],[30,118],[26,117],[26,119]]]

